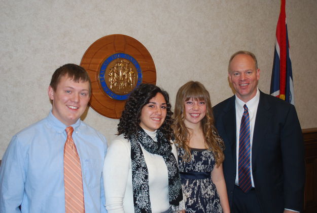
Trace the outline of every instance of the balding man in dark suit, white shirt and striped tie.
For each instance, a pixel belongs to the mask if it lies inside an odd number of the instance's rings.
[[[214,115],[226,146],[223,169],[231,211],[301,212],[304,147],[295,107],[258,89],[260,69],[253,53],[234,53],[228,71],[236,94],[216,105]]]

